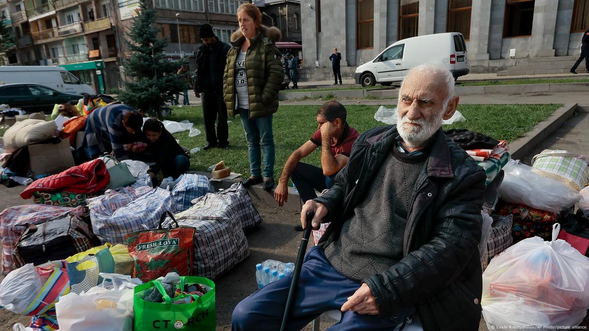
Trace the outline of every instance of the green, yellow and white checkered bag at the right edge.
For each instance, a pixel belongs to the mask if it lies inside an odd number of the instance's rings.
[[[532,167],[544,170],[544,176],[564,181],[575,191],[587,186],[589,163],[583,155],[563,150],[543,150],[532,158]]]

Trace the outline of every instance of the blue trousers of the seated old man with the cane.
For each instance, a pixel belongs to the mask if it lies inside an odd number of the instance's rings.
[[[283,279],[262,287],[237,304],[231,316],[231,328],[234,331],[279,330],[292,276],[290,273]],[[339,310],[359,288],[360,283],[346,278],[332,267],[322,248],[313,246],[305,256],[287,330],[300,330],[323,312]],[[329,330],[392,331],[397,326],[404,326],[403,320],[413,312],[415,309],[408,307],[396,314],[397,316],[379,317],[348,311]]]

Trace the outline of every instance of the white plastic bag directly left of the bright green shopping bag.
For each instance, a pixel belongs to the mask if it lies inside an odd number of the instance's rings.
[[[88,292],[70,292],[55,303],[59,330],[133,331],[133,288],[141,281],[121,274],[101,273],[111,282]]]

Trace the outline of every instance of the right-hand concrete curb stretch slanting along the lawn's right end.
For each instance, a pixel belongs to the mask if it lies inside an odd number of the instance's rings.
[[[547,120],[538,123],[524,137],[509,143],[509,154],[511,154],[511,158],[514,160],[523,158],[535,145],[539,144],[540,141],[548,137],[548,135],[571,118],[575,110],[577,110],[577,104],[565,104],[554,111]]]

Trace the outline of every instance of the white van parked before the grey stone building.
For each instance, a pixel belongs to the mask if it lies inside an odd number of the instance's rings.
[[[401,82],[409,69],[424,63],[441,64],[454,79],[468,74],[466,44],[458,32],[422,35],[395,42],[370,62],[356,68],[356,84],[390,86]]]

